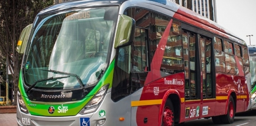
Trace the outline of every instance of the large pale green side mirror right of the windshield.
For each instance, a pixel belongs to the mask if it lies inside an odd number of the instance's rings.
[[[126,15],[118,16],[115,33],[115,48],[132,44],[135,34],[135,20]]]

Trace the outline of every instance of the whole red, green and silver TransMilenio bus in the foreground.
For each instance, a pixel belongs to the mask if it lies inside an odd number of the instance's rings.
[[[233,123],[251,106],[246,42],[168,0],[73,0],[26,30],[20,126]]]

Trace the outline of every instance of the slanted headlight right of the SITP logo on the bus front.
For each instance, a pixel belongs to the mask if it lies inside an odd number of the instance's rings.
[[[109,84],[106,84],[105,86],[101,87],[100,90],[93,96],[93,98],[88,102],[85,107],[79,112],[79,114],[88,114],[92,113],[97,110],[97,108],[100,106],[100,103],[102,102],[103,98],[106,95],[106,92],[108,90]]]

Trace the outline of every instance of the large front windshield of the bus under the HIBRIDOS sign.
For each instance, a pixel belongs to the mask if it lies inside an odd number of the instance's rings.
[[[117,11],[117,6],[97,7],[38,16],[24,63],[25,84],[46,90],[95,84],[108,64]]]

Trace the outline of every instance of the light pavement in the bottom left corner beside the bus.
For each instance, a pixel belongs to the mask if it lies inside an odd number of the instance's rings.
[[[17,126],[16,113],[0,114],[0,126]]]

